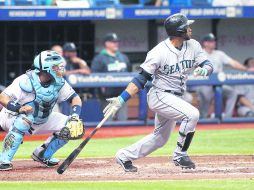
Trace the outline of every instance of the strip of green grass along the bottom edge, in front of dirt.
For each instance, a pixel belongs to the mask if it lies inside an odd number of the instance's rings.
[[[1,182],[4,190],[252,190],[254,180],[186,180],[135,182]]]

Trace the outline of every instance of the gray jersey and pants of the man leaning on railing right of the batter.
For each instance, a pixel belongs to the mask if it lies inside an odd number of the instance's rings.
[[[204,51],[205,52],[205,51]],[[213,73],[223,72],[223,65],[229,64],[232,61],[227,54],[220,50],[213,50],[212,53],[205,52],[208,59],[213,63]],[[225,117],[232,117],[234,107],[237,100],[237,93],[231,87],[224,85],[222,87],[223,96],[226,97],[225,104]],[[197,87],[198,97],[199,97],[199,110],[200,117],[206,118],[208,116],[208,110],[210,103],[214,98],[214,90],[212,86],[200,86]]]

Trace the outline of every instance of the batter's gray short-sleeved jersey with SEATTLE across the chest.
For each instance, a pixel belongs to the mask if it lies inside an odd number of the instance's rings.
[[[156,88],[183,93],[187,75],[205,60],[207,56],[196,40],[184,41],[178,50],[167,38],[148,52],[140,67],[154,76]]]

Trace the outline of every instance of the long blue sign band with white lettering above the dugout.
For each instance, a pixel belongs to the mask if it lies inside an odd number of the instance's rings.
[[[253,18],[254,7],[109,7],[51,8],[1,7],[0,20],[105,20],[164,19],[170,14],[184,13],[189,18]]]

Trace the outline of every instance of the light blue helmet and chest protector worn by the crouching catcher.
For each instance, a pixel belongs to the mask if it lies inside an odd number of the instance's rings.
[[[64,63],[64,58],[55,51],[42,51],[34,59],[34,70],[26,73],[30,81],[20,82],[22,90],[35,93],[35,100],[28,103],[34,110],[34,124],[45,123],[57,102],[59,91],[65,83]],[[41,82],[41,72],[49,74],[49,82]]]

